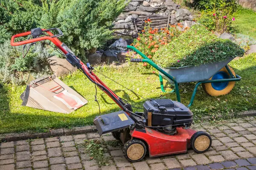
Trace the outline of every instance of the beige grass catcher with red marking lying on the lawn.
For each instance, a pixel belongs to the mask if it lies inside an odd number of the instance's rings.
[[[87,100],[64,84],[55,75],[34,79],[29,75],[22,105],[45,111],[71,113],[87,104]]]

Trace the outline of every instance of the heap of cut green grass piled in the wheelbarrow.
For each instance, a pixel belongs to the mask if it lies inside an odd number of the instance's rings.
[[[154,62],[164,68],[202,65],[223,61],[229,57],[240,57],[244,50],[231,42],[222,40],[196,24],[154,55]]]

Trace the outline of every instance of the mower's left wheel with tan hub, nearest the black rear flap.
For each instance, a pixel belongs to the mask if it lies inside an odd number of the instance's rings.
[[[130,162],[141,161],[147,152],[147,147],[141,140],[131,139],[125,143],[123,154]]]

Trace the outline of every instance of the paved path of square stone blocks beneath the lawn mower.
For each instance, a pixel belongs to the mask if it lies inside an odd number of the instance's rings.
[[[256,117],[245,117],[214,124],[204,122],[192,126],[212,136],[209,151],[149,158],[130,163],[121,147],[111,147],[110,134],[98,133],[32,139],[0,144],[0,170],[256,170]],[[84,140],[99,139],[105,144],[109,165],[100,167],[85,153]],[[168,147],[168,146],[166,146]]]

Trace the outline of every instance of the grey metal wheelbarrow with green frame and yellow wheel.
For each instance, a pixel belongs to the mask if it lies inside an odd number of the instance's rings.
[[[193,90],[188,107],[190,107],[195,99],[198,86],[202,84],[204,91],[210,96],[221,96],[232,91],[236,81],[240,81],[241,77],[236,75],[232,68],[227,64],[232,61],[233,57],[227,58],[221,62],[214,62],[199,66],[186,66],[180,68],[160,68],[151,59],[146,57],[137,48],[130,45],[128,49],[137,52],[143,59],[131,59],[131,62],[147,62],[159,71],[160,86],[163,92],[166,92],[163,86],[163,78],[175,85],[172,92],[176,92],[177,101],[180,102],[180,92],[178,84],[186,82],[197,82]]]

